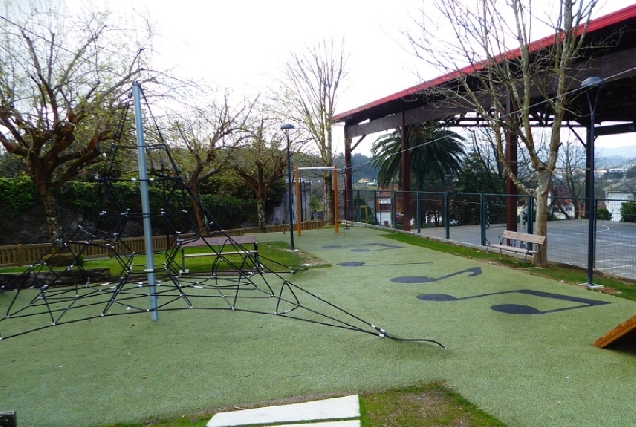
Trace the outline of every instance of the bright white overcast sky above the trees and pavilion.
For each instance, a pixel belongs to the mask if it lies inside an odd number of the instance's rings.
[[[77,6],[85,0],[66,0]],[[546,10],[558,0],[534,0]],[[406,52],[400,30],[412,25],[430,0],[95,0],[119,13],[149,15],[160,35],[165,65],[237,93],[257,93],[278,75],[291,52],[325,38],[344,38],[349,77],[338,112],[395,93],[437,75]],[[600,0],[595,17],[626,7]],[[434,9],[430,7],[430,12]],[[336,134],[342,134],[342,128]],[[599,139],[599,145],[603,144]],[[338,138],[337,141],[341,141]],[[367,137],[368,154],[373,138]],[[336,142],[337,142],[336,141]],[[336,151],[342,151],[337,142]],[[616,145],[615,143],[613,145]]]

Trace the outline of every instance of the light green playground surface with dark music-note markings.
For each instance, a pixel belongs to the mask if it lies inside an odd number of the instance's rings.
[[[288,238],[272,233],[258,240]],[[510,426],[618,426],[636,419],[634,353],[590,345],[634,316],[636,303],[397,242],[373,229],[305,231],[295,243],[331,264],[285,276],[308,292],[298,293],[304,304],[396,337],[435,339],[447,350],[241,312],[161,312],[157,322],[146,314],[94,319],[0,341],[0,411],[17,411],[21,426],[98,426],[444,381]],[[429,280],[392,280],[401,276]],[[524,290],[609,304],[578,308]],[[426,294],[455,300],[417,298]],[[7,296],[0,295],[0,308]],[[545,314],[492,309],[506,304]]]

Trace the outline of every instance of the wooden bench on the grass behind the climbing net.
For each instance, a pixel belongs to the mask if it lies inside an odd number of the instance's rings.
[[[252,249],[248,249],[243,245],[252,245]],[[193,254],[186,254],[186,247],[201,247],[201,246],[211,246],[215,249],[211,249],[210,252],[198,252]],[[225,250],[225,249],[231,250]],[[187,242],[181,246],[181,273],[188,273],[188,269],[186,268],[185,262],[186,258],[197,258],[197,257],[215,257],[214,262],[212,263],[213,273],[216,274],[218,270],[219,263],[225,259],[227,256],[231,255],[242,255],[243,258],[240,262],[240,269],[243,271],[245,267],[250,264],[248,261],[250,259],[254,260],[254,267],[260,271],[261,264],[258,259],[258,242],[256,241],[255,236],[236,236],[236,237],[201,237],[197,240],[193,240],[191,242]],[[251,268],[250,268],[251,270]]]

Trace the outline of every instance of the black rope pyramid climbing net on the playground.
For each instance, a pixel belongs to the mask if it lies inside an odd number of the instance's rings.
[[[61,237],[0,289],[0,340],[100,317],[150,313],[156,319],[162,311],[186,309],[269,314],[399,339],[294,284],[288,279],[292,269],[228,235],[186,184],[158,135],[159,144],[141,148],[116,140],[95,177],[99,216]],[[150,168],[150,178],[142,174],[122,178],[122,159],[140,149],[162,166]],[[142,184],[149,194],[149,212],[140,207]],[[196,212],[201,213],[199,219]],[[145,238],[146,245],[148,239],[153,245],[150,254],[133,244],[138,239],[130,239],[148,223],[152,235]],[[182,250],[192,245],[197,252],[207,251],[210,265],[186,273],[180,262]],[[97,274],[87,269],[82,260],[94,248],[115,260],[118,271]],[[156,264],[149,264],[148,257]],[[222,269],[217,268],[220,265]],[[434,340],[418,340],[441,346]]]

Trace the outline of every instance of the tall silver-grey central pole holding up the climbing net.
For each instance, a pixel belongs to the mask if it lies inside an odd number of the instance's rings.
[[[146,247],[146,273],[148,273],[148,289],[150,295],[150,316],[159,320],[157,312],[157,281],[155,277],[154,248],[152,245],[152,227],[150,223],[150,197],[148,196],[148,172],[146,163],[146,142],[144,141],[144,124],[141,116],[141,85],[133,83],[133,101],[135,103],[135,128],[137,130],[137,164],[139,167],[139,183],[141,191],[141,213],[144,220],[144,242]]]

